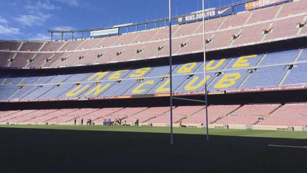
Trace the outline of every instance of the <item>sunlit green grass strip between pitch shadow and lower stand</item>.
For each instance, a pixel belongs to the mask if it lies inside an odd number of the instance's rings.
[[[61,129],[78,131],[113,131],[113,132],[138,132],[138,133],[169,133],[169,127],[148,126],[80,126],[80,125],[0,125],[0,128],[32,128],[32,129]],[[174,127],[174,134],[206,135],[206,128]],[[307,139],[307,132],[296,131],[265,131],[248,129],[218,129],[209,128],[210,135],[238,136],[238,137],[264,137],[264,138],[289,138]]]

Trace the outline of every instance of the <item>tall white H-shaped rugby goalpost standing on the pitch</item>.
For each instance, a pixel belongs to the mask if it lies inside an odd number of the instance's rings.
[[[207,92],[207,70],[206,70],[206,38],[205,38],[205,0],[203,1],[203,47],[204,47],[204,79],[205,79],[205,100],[195,100],[195,99],[187,99],[180,97],[172,96],[172,53],[171,53],[171,0],[169,0],[169,87],[170,87],[170,96],[169,96],[169,104],[170,104],[170,144],[173,143],[173,124],[172,124],[172,100],[185,100],[185,101],[194,101],[205,103],[206,109],[206,139],[209,140],[209,128],[208,128],[208,92]]]

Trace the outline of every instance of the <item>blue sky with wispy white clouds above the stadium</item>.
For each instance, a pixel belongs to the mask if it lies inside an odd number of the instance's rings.
[[[205,4],[218,7],[220,1]],[[168,0],[0,0],[0,7],[0,39],[17,40],[49,40],[48,29],[98,28],[168,16]],[[172,15],[201,8],[202,0],[172,0]]]

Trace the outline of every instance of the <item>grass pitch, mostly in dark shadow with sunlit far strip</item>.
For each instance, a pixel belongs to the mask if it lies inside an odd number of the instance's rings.
[[[306,172],[306,132],[1,125],[0,172]]]

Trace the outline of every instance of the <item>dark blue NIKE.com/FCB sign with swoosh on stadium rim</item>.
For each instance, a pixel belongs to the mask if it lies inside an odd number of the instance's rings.
[[[214,17],[218,17],[218,16],[224,16],[224,15],[228,15],[228,14],[232,14],[233,13],[233,8],[232,7],[226,7],[226,8],[222,8],[222,9],[214,9],[214,10],[209,10],[209,11],[205,11],[205,18],[214,18]],[[178,22],[179,23],[184,23],[186,21],[193,21],[193,20],[199,20],[203,18],[203,13],[196,13],[196,14],[190,14],[188,16],[184,16],[184,17],[178,17]]]

